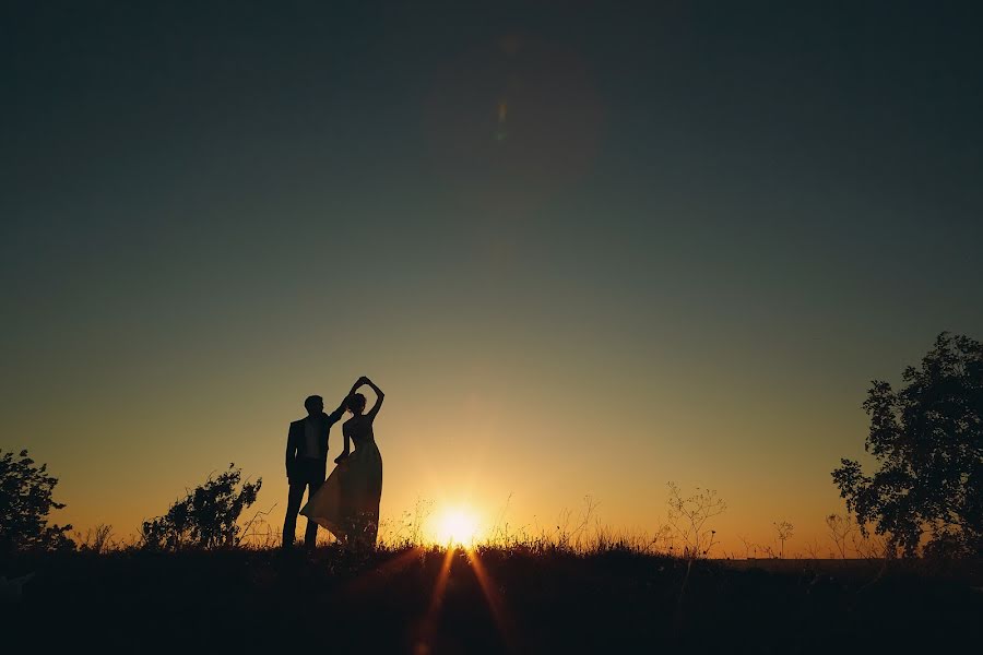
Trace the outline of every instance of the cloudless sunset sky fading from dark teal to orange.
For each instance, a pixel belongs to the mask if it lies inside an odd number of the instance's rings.
[[[368,374],[383,516],[675,480],[794,550],[871,379],[983,336],[979,3],[177,4],[0,10],[0,448],[60,522],[235,462],[275,524]]]

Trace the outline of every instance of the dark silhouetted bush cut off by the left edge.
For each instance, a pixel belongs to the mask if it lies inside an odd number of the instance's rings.
[[[14,457],[0,451],[0,555],[15,550],[72,548],[71,525],[48,525],[48,513],[64,505],[51,500],[58,478],[23,450]]]

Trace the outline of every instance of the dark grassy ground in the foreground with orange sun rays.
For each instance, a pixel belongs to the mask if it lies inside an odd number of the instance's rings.
[[[937,653],[983,643],[966,575],[738,570],[628,550],[73,553],[2,609],[4,652]],[[687,574],[687,571],[688,574]]]

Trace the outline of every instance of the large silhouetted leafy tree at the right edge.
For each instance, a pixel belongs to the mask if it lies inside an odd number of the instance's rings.
[[[983,553],[983,346],[946,332],[902,373],[898,391],[874,380],[865,450],[880,463],[873,477],[842,460],[832,472],[846,509],[887,535],[891,549],[915,556]]]

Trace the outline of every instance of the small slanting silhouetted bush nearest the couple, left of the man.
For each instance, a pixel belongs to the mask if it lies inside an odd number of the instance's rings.
[[[173,505],[163,516],[143,522],[143,547],[153,550],[222,548],[238,546],[242,528],[237,524],[242,510],[256,502],[262,478],[242,483],[235,464]]]

